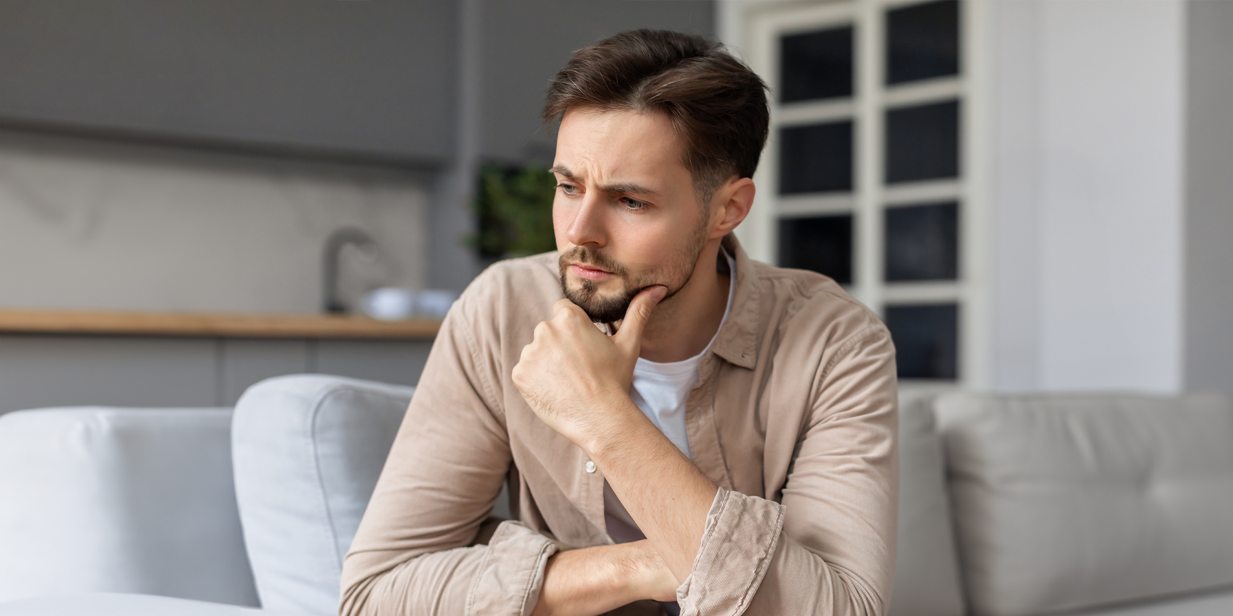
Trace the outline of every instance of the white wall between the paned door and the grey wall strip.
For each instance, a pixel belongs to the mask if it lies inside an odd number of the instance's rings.
[[[1180,389],[1184,21],[991,2],[995,388]]]

